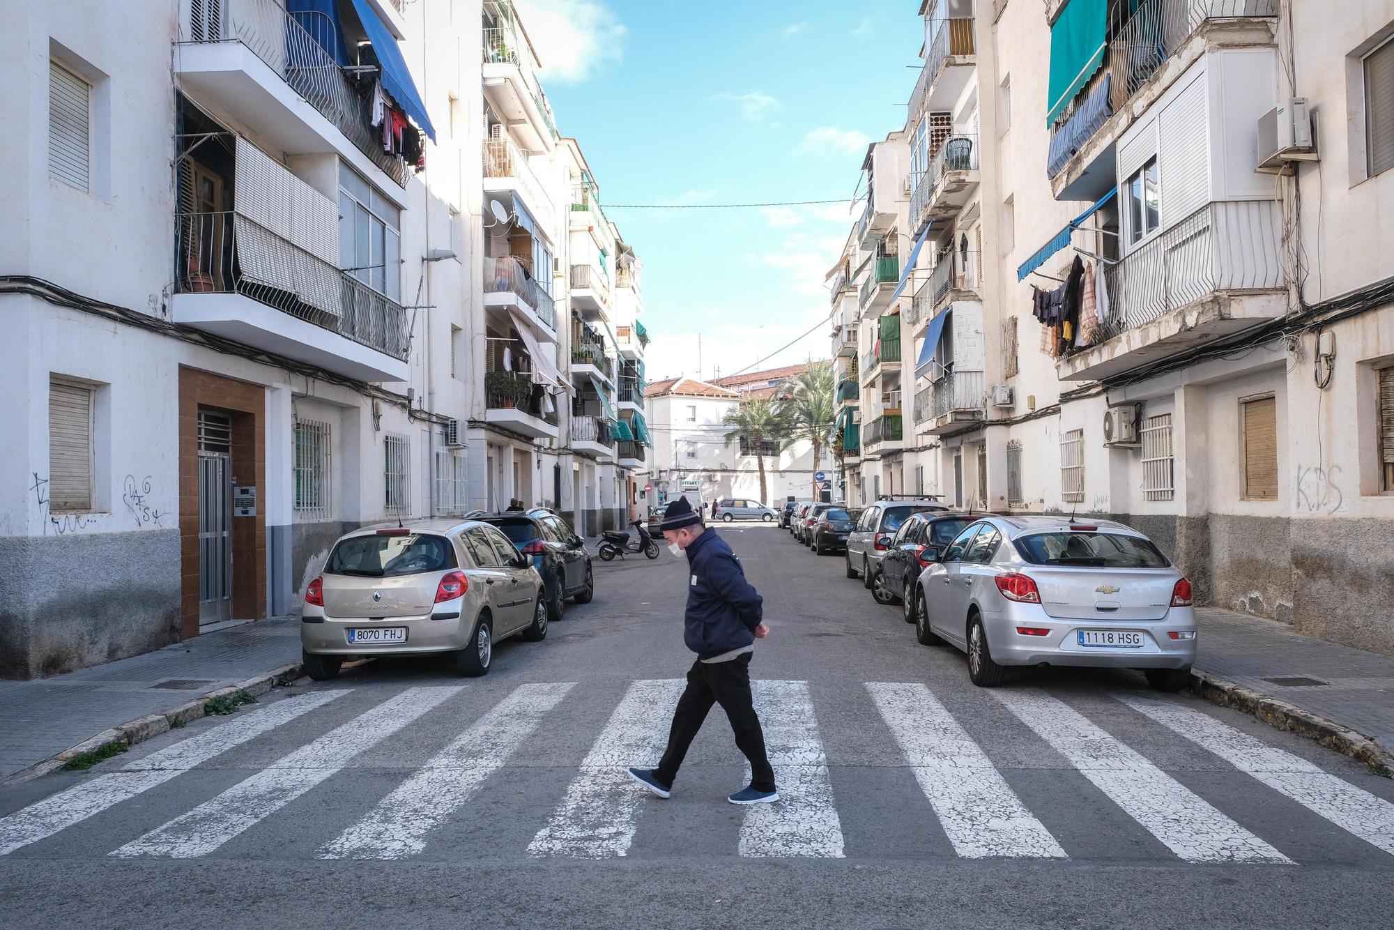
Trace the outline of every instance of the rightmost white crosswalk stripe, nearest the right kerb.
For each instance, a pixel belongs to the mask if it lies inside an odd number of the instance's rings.
[[[1269,788],[1361,839],[1394,853],[1394,805],[1322,771],[1301,756],[1267,746],[1209,714],[1147,697],[1119,697]]]

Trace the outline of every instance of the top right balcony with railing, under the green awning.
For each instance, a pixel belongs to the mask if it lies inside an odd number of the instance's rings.
[[[1277,15],[1278,0],[1142,0],[1107,36],[1098,71],[1052,121],[1047,174],[1055,199],[1097,201],[1117,183],[1122,134],[1207,47],[1271,47]]]

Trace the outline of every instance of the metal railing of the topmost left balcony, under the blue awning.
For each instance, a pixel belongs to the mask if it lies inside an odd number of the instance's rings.
[[[369,121],[369,88],[339,67],[329,49],[337,25],[322,13],[287,13],[276,0],[187,0],[183,42],[241,42],[319,110],[383,174],[406,187],[407,167],[382,151],[382,132]]]

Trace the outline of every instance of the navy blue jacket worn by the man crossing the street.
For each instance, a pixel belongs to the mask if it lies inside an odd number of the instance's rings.
[[[711,658],[754,643],[764,601],[746,581],[726,541],[708,527],[686,552],[690,577],[683,641],[687,648],[698,658]]]

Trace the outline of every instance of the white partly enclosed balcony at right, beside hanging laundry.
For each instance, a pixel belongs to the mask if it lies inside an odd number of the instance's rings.
[[[1094,343],[1061,358],[1065,381],[1096,381],[1282,317],[1277,201],[1209,204],[1105,272],[1108,318]]]

